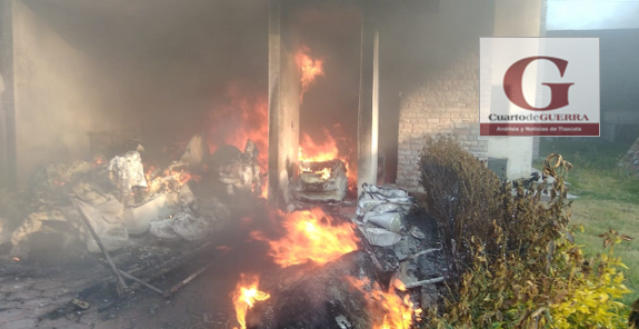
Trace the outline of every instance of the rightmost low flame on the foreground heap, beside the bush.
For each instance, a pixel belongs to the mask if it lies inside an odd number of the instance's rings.
[[[398,291],[406,290],[400,280],[395,279],[389,291],[383,291],[377,282],[353,277],[347,277],[347,280],[365,295],[369,312],[375,318],[372,329],[409,329],[413,325],[413,316],[421,313],[421,309],[413,309],[408,293],[403,298],[398,295]]]

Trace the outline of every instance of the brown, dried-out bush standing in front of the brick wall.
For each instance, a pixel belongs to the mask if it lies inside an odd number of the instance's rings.
[[[459,291],[460,275],[472,265],[468,238],[475,235],[490,242],[487,223],[502,217],[501,183],[495,172],[447,136],[427,138],[420,168],[426,208],[438,220],[448,260],[447,282]],[[488,248],[497,251],[497,245]]]

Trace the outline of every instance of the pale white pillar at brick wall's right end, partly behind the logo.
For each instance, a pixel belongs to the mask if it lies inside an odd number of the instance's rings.
[[[541,4],[542,0],[495,0],[493,37],[539,37]],[[491,136],[488,156],[508,159],[508,179],[528,177],[532,170],[533,137]]]

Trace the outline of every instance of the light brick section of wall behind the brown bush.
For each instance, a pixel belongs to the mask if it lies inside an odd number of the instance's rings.
[[[479,137],[479,49],[460,49],[447,69],[401,96],[397,185],[419,189],[419,154],[426,136],[452,133],[481,160],[488,139]],[[451,57],[455,58],[455,57]]]

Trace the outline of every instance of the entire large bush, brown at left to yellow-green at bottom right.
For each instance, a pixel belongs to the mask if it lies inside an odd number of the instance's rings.
[[[561,156],[545,161],[550,189],[515,193],[450,137],[428,139],[420,164],[450,263],[450,293],[442,311],[430,310],[431,327],[626,328],[617,300],[630,291],[613,247],[630,238],[610,229],[605,252],[585,258],[568,228],[572,164]]]

